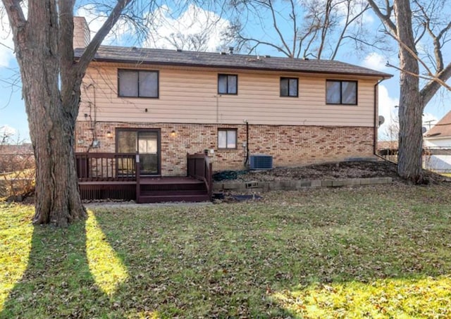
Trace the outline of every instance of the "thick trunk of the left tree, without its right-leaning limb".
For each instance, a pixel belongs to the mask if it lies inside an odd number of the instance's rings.
[[[17,39],[20,49],[16,55],[36,158],[33,222],[64,227],[86,216],[75,171],[75,117],[67,111],[78,110],[80,90],[72,92],[70,101],[65,101],[70,105],[63,105],[56,4],[49,1],[44,6],[32,1],[30,11],[35,14],[29,19],[25,34]],[[21,41],[26,45],[20,45]]]

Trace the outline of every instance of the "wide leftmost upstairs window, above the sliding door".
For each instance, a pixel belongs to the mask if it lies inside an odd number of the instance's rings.
[[[158,71],[118,70],[118,91],[123,97],[158,98]]]

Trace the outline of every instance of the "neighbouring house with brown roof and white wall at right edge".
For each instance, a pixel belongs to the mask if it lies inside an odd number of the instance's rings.
[[[451,172],[451,111],[424,135],[424,167],[438,173]]]

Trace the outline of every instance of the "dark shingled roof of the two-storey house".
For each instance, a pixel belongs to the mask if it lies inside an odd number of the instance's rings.
[[[75,49],[75,59],[83,49]],[[303,73],[326,73],[337,75],[362,75],[392,77],[362,66],[340,61],[279,58],[272,56],[250,56],[218,52],[197,52],[168,49],[145,49],[123,46],[100,46],[93,61],[116,63],[141,63],[156,65],[199,66],[209,68],[234,68],[247,70],[272,70]]]

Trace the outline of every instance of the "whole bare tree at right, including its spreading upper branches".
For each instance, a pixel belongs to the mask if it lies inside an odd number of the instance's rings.
[[[426,104],[451,77],[445,63],[451,29],[446,0],[368,0],[383,22],[385,34],[396,40],[400,64],[400,135],[398,174],[415,183],[424,182],[421,170],[422,115]],[[432,48],[432,52],[431,49]],[[424,83],[420,83],[423,80]]]

